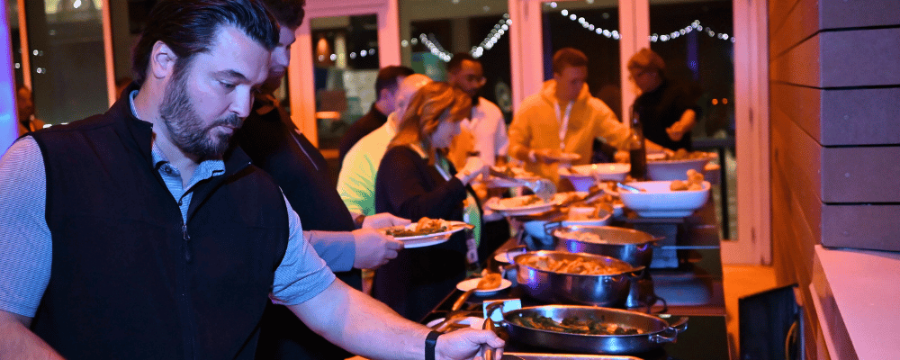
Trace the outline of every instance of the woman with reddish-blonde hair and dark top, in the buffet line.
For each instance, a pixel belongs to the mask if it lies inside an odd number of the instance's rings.
[[[468,184],[488,166],[469,157],[457,172],[444,155],[471,107],[472,99],[451,85],[423,86],[412,96],[378,168],[375,211],[412,221],[464,220],[476,227],[472,239],[457,232],[444,244],[406,249],[378,268],[374,297],[410,320],[421,320],[463,280],[467,254],[469,261],[477,261],[472,254],[482,214]]]

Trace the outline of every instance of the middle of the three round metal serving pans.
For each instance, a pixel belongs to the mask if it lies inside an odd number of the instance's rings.
[[[628,270],[611,275],[556,273],[526,265],[534,257],[548,257],[555,261],[585,258]],[[625,305],[631,280],[636,279],[644,270],[644,266],[635,268],[612,257],[584,253],[572,254],[565,251],[530,251],[518,255],[515,257],[515,261],[518,285],[525,293],[537,300],[610,307]]]

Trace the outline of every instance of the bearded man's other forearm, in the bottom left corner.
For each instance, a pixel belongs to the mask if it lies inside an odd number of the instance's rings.
[[[62,360],[62,356],[28,329],[29,321],[12,312],[0,311],[0,360]]]

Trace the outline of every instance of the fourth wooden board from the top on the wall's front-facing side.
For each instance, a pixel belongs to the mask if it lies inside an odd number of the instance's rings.
[[[900,202],[900,147],[824,148],[822,201]]]

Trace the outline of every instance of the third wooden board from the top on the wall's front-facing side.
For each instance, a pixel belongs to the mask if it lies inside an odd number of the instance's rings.
[[[814,91],[822,99],[815,106],[822,119],[814,119],[822,124],[822,145],[900,144],[900,88]]]

